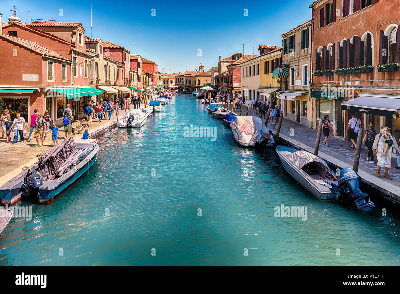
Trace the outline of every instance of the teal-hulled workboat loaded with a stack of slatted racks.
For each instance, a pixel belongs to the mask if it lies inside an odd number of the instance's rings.
[[[78,180],[96,161],[97,143],[75,143],[68,136],[56,147],[37,155],[39,161],[0,187],[3,205],[12,205],[21,197],[39,204],[52,202]]]

